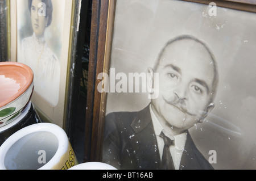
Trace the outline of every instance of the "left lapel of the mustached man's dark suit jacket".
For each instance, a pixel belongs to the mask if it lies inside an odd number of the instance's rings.
[[[135,152],[138,169],[158,169],[160,155],[156,142],[149,106],[139,111],[131,123],[134,136],[131,137],[131,146]]]

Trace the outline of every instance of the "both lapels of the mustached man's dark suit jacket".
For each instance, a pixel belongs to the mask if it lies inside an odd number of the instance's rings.
[[[136,162],[138,166],[137,169],[159,169],[160,154],[149,106],[137,113],[135,119],[131,122],[131,128],[129,137],[130,146],[134,155],[133,162]],[[180,169],[193,170],[205,168],[212,169],[196,148],[189,132],[187,132],[187,140],[181,157]]]

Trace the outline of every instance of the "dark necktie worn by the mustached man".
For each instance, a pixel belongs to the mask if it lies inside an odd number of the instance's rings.
[[[163,132],[161,132],[160,137],[162,137],[164,140],[164,149],[160,169],[175,170],[174,161],[172,160],[172,155],[170,152],[170,146],[174,145],[174,141],[165,136]]]

